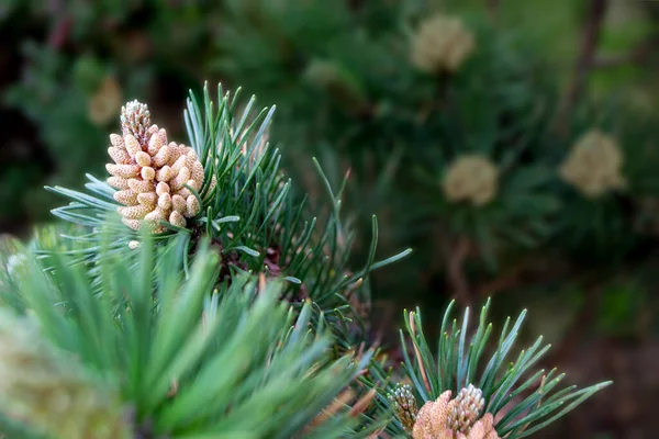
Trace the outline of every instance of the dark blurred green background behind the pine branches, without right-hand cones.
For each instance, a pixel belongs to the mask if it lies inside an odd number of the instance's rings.
[[[410,60],[433,14],[474,36],[451,75]],[[45,184],[104,176],[124,102],[183,140],[188,89],[243,87],[277,105],[270,139],[300,191],[322,202],[312,156],[335,184],[349,169],[358,241],[376,213],[381,255],[415,249],[375,275],[373,340],[395,342],[405,306],[428,324],[454,297],[528,307],[528,336],[555,346],[547,367],[615,381],[545,437],[656,437],[658,68],[650,0],[3,0],[0,233],[54,219],[63,201]],[[589,198],[561,180],[592,130],[618,146],[624,190]],[[469,154],[500,172],[483,206],[443,190]]]

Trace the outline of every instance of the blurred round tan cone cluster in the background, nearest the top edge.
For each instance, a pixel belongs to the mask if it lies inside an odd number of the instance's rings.
[[[422,22],[412,38],[412,64],[428,74],[455,72],[474,49],[473,34],[462,20],[435,15]]]

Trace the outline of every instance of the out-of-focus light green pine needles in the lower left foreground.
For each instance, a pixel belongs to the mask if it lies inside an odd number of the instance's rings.
[[[347,387],[371,353],[332,359],[311,302],[292,313],[281,281],[263,274],[214,286],[220,255],[206,240],[186,279],[181,237],[142,239],[136,271],[103,245],[98,275],[59,255],[52,275],[30,258],[5,274],[2,420],[71,439],[357,438],[377,427],[360,414],[368,395]]]

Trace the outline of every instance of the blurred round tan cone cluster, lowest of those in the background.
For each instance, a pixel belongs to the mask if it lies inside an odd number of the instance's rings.
[[[442,189],[451,202],[469,202],[474,206],[494,199],[499,169],[487,157],[466,155],[454,161],[444,177]]]

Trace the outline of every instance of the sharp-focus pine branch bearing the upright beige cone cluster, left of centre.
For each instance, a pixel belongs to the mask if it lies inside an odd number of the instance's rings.
[[[253,114],[254,99],[242,112],[238,105],[238,97],[223,94],[221,87],[214,102],[208,87],[201,103],[191,94],[186,112],[191,146],[186,146],[168,143],[166,130],[150,124],[154,115],[145,104],[129,103],[122,110],[123,136],[110,136],[113,162],[107,166],[107,182],[88,176],[89,194],[51,188],[72,200],[54,214],[92,227],[90,235],[72,237],[78,244],[97,243],[100,227],[116,212],[124,225],[148,227],[159,240],[181,233],[185,261],[199,238],[208,236],[222,255],[222,280],[244,271],[282,279],[282,295],[294,303],[313,300],[337,330],[359,330],[359,316],[368,311],[368,273],[410,250],[376,261],[373,217],[368,261],[350,271],[354,236],[340,218],[342,189],[334,193],[327,183],[331,209],[320,224],[306,196],[291,190],[280,169],[281,154],[268,143],[275,109]],[[125,226],[118,227],[123,238],[112,251],[130,254],[137,245],[136,232],[126,235]],[[90,244],[86,251],[82,245],[77,260],[93,261],[96,248]]]

